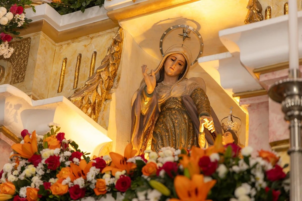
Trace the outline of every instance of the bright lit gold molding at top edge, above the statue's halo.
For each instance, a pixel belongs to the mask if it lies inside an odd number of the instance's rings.
[[[107,15],[111,20],[117,23],[120,20],[149,15],[197,1],[198,0],[149,0],[109,11]]]

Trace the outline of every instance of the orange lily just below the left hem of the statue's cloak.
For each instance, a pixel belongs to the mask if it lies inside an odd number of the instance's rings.
[[[130,172],[130,170],[136,168],[136,165],[131,162],[127,162],[128,159],[135,156],[137,153],[137,150],[132,150],[131,144],[128,144],[124,151],[124,156],[110,152],[109,155],[112,159],[111,165],[105,167],[102,170],[102,173],[106,171],[111,171],[111,174],[114,176],[117,171],[123,171],[126,170],[127,173]]]

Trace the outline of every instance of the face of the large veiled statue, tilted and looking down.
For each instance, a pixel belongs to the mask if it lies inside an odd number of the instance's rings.
[[[182,54],[172,54],[168,56],[164,63],[165,75],[179,76],[185,69],[185,57]]]

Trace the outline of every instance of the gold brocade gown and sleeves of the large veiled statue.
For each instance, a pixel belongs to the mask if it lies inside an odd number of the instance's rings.
[[[156,152],[167,146],[175,149],[191,149],[191,146],[199,146],[197,134],[199,130],[194,126],[182,97],[166,97],[170,93],[171,87],[172,85],[168,86],[162,83],[158,83],[156,87],[159,115],[154,125],[152,140],[149,140],[149,143],[151,141],[151,149]],[[199,117],[210,116],[210,102],[203,89],[192,89],[189,97],[193,100]],[[145,115],[149,109],[149,103],[152,101],[152,96],[143,90],[140,99],[141,115]]]

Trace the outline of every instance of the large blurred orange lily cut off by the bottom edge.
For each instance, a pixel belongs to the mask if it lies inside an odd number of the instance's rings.
[[[174,186],[179,199],[172,198],[170,201],[211,201],[207,199],[207,194],[215,184],[216,180],[204,183],[202,174],[194,174],[192,180],[183,175],[177,175]]]

